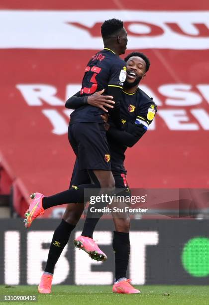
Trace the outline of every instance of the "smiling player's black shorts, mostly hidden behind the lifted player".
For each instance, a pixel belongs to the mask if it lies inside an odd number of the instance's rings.
[[[126,179],[126,174],[124,173],[115,173],[113,174],[115,180],[115,188],[128,188],[128,183]],[[72,185],[80,184],[89,184],[92,183],[89,177],[87,170],[80,170],[79,168],[79,159],[76,159],[74,164],[73,173],[70,181],[70,187]]]

